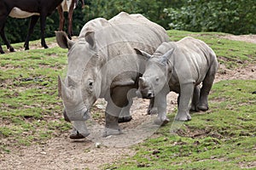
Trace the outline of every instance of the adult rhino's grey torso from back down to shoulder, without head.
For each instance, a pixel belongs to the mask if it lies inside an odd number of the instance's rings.
[[[108,62],[102,74],[111,82],[105,84],[111,83],[112,87],[134,83],[138,72],[143,73],[143,59],[137,57],[134,48],[153,54],[161,42],[169,41],[164,28],[141,14],[122,12],[111,20],[91,20],[83,27],[79,38],[84,38],[87,31],[95,31],[98,54]]]

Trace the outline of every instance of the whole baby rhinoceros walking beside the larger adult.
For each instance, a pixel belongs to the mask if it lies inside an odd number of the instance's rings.
[[[171,91],[179,94],[176,120],[191,120],[189,109],[208,110],[208,94],[218,70],[218,61],[205,42],[184,37],[178,42],[163,42],[153,55],[135,50],[148,58],[146,71],[139,78],[137,94],[147,99],[154,98],[154,108],[158,112],[156,123],[169,122],[166,95]]]

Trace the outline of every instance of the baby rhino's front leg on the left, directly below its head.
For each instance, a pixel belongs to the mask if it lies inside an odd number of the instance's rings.
[[[158,125],[165,125],[170,122],[166,117],[166,94],[158,94],[155,96],[154,105],[157,107],[158,111],[158,116],[154,123]]]

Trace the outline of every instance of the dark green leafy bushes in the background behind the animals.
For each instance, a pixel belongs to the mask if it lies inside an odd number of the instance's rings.
[[[73,13],[74,35],[79,35],[79,31],[87,21],[97,17],[110,19],[121,11],[143,14],[166,29],[221,31],[233,34],[256,33],[254,0],[86,0],[84,3],[84,9],[79,3]],[[65,16],[67,19],[67,14]],[[29,18],[22,20],[8,18],[5,31],[10,42],[25,41],[29,20]],[[55,11],[47,18],[46,37],[54,37],[58,27],[59,15]],[[67,30],[67,20],[65,30]],[[31,39],[39,38],[38,22]],[[1,38],[0,42],[3,44]]]

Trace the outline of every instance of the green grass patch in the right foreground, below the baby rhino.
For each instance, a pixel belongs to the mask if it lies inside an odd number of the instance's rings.
[[[172,123],[137,144],[136,156],[106,167],[118,169],[240,169],[256,161],[256,80],[215,83],[210,110],[194,113],[177,133]],[[172,113],[174,114],[174,113]],[[170,116],[173,120],[173,116]]]

